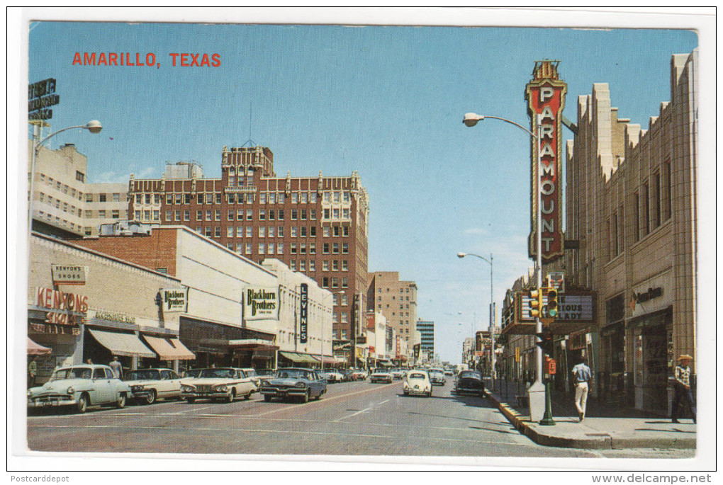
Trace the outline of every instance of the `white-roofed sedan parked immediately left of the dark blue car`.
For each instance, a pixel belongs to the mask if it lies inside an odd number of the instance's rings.
[[[234,402],[239,396],[244,399],[258,390],[243,370],[234,367],[209,367],[198,372],[198,377],[181,380],[181,398],[189,403],[196,399]]]

